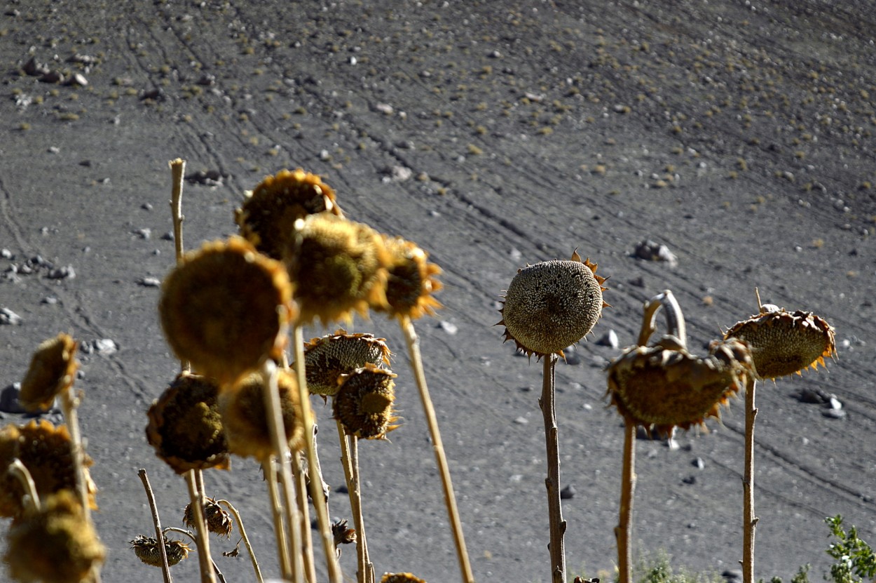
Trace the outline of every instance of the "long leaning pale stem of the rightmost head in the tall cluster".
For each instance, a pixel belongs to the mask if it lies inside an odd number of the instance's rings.
[[[402,333],[405,335],[407,352],[411,358],[411,368],[413,369],[413,375],[417,380],[417,387],[420,389],[420,401],[423,404],[423,413],[426,415],[429,434],[432,437],[432,449],[435,453],[438,471],[441,473],[442,487],[444,488],[444,505],[447,507],[450,528],[453,530],[454,542],[456,543],[456,558],[459,560],[459,567],[463,575],[463,583],[474,583],[475,576],[471,571],[469,552],[465,548],[463,523],[459,519],[459,510],[456,508],[456,495],[453,492],[453,482],[450,480],[447,455],[444,453],[441,431],[438,430],[438,418],[435,416],[434,405],[432,404],[431,397],[429,397],[429,389],[426,385],[426,374],[423,372],[423,359],[420,355],[420,338],[417,337],[417,331],[414,330],[413,322],[411,322],[410,317],[399,316],[399,325],[401,326]]]

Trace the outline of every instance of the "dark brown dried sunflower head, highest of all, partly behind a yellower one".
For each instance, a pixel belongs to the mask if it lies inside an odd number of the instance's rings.
[[[252,192],[246,193],[234,219],[240,234],[256,245],[259,252],[281,260],[295,221],[319,212],[343,217],[335,202],[335,191],[316,174],[298,168],[266,176]]]

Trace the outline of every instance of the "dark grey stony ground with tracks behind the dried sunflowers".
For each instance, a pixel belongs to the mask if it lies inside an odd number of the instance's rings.
[[[180,525],[186,503],[144,437],[178,367],[148,279],[173,265],[163,235],[176,157],[215,179],[187,184],[189,248],[236,231],[234,208],[266,174],[303,167],[351,218],[416,241],[443,268],[445,309],[418,329],[478,580],[549,579],[541,366],[493,324],[519,267],[575,248],[611,276],[612,308],[557,369],[562,486],[576,492],[563,501],[570,571],[611,578],[616,561],[623,430],[605,407],[604,365],[618,349],[594,340],[616,331],[632,344],[642,303],[665,288],[698,353],[756,311],[755,287],[837,330],[827,371],[759,391],[758,575],[811,563],[820,579],[826,515],[876,539],[874,15],[871,3],[812,0],[4,2],[0,308],[20,323],[0,326],[0,384],[21,380],[59,331],[114,341],[81,354],[77,381],[103,580],[160,578],[127,548],[152,532],[138,468],[166,524]],[[677,262],[637,258],[646,239]],[[405,419],[391,443],[361,448],[378,574],[459,580],[397,326],[355,328],[398,353]],[[841,412],[801,402],[804,390],[835,395]],[[743,420],[733,402],[676,450],[639,441],[638,551],[738,569]],[[340,487],[333,437],[321,457]],[[240,508],[276,576],[254,463],[206,480]],[[348,512],[335,494],[331,514]],[[214,543],[216,555],[236,541]],[[228,580],[252,580],[243,556],[217,560]],[[342,563],[354,577],[355,552]],[[177,579],[195,580],[196,566],[174,567]]]

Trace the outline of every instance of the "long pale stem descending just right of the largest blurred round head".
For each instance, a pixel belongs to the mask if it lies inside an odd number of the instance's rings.
[[[326,507],[326,497],[322,493],[320,473],[316,465],[316,451],[314,441],[314,416],[310,407],[310,391],[307,390],[307,376],[304,371],[304,332],[300,323],[293,326],[293,340],[295,349],[295,373],[298,378],[298,394],[301,402],[301,419],[304,427],[304,439],[307,446],[307,469],[310,473],[310,499],[314,502],[316,521],[319,524],[320,537],[322,539],[322,551],[325,553],[326,565],[329,570],[329,583],[342,583],[343,574],[341,565],[337,562],[335,554],[335,537],[331,533],[329,523],[329,509]]]

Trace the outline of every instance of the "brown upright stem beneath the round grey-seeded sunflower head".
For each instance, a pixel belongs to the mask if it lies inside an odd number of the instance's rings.
[[[563,536],[566,533],[566,521],[562,519],[562,502],[560,501],[560,441],[557,436],[556,404],[555,404],[555,368],[556,354],[548,354],[544,358],[544,372],[541,380],[541,398],[539,407],[545,423],[545,444],[548,450],[548,521],[550,524],[550,570],[553,583],[566,581],[566,544]]]

